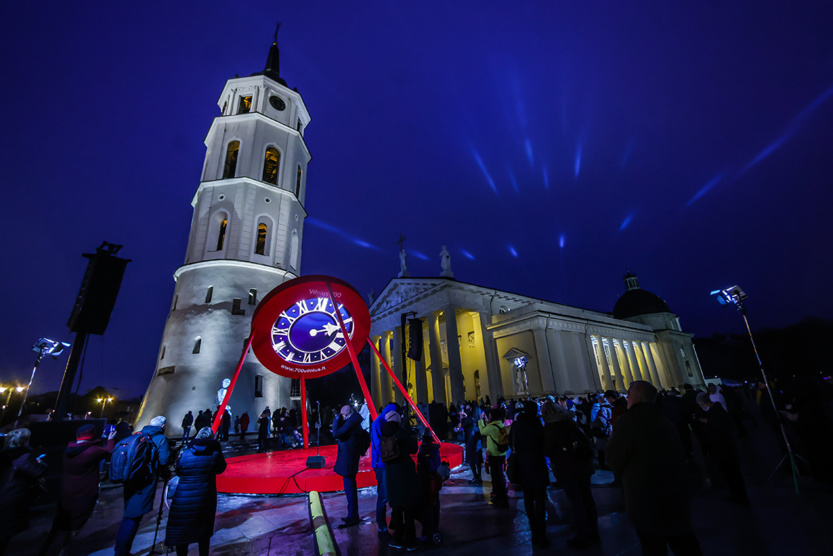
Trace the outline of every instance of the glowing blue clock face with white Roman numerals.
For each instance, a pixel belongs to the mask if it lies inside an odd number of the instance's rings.
[[[353,337],[353,317],[339,305],[347,334]],[[296,365],[315,365],[332,359],[347,342],[335,308],[326,297],[298,301],[285,309],[272,327],[272,347],[283,360]]]

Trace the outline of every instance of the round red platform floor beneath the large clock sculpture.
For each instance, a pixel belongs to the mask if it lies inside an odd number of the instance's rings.
[[[229,494],[293,494],[311,490],[343,490],[341,477],[333,472],[336,454],[337,448],[334,445],[321,447],[321,455],[327,458],[324,469],[307,469],[307,457],[315,455],[315,448],[228,458],[226,471],[217,476],[217,490]],[[452,469],[463,463],[462,446],[442,444],[440,454]],[[359,488],[376,484],[376,475],[370,467],[370,456],[359,460],[356,482]]]

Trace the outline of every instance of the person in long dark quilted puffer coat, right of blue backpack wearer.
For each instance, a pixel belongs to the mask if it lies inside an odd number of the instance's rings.
[[[186,556],[191,543],[199,544],[200,556],[208,556],[217,513],[217,475],[225,469],[220,443],[211,428],[202,428],[176,464],[179,484],[168,515],[165,545],[175,546],[177,556]]]

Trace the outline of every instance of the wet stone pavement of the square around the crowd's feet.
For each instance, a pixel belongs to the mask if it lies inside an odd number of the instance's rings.
[[[691,465],[689,489],[692,492],[692,515],[695,532],[706,555],[828,555],[833,554],[833,491],[801,477],[800,495],[793,489],[789,468],[782,469],[770,481],[778,464],[777,436],[758,427],[740,440],[742,468],[752,505],[735,506],[724,501],[725,486],[712,481],[709,467],[699,456]],[[548,490],[547,532],[552,546],[537,549],[530,544],[529,524],[519,493],[510,490],[510,507],[499,509],[489,504],[488,475],[482,487],[468,484],[471,474],[460,467],[441,491],[440,531],[443,542],[424,546],[419,552],[454,554],[588,554],[638,555],[639,543],[623,511],[622,493],[611,486],[613,476],[607,471],[594,475],[593,495],[599,510],[601,545],[587,550],[566,547],[573,535],[569,524],[569,505],[558,488]],[[680,485],[685,488],[685,485]],[[157,503],[161,496],[157,492]],[[346,516],[344,496],[323,494],[325,509],[333,526]],[[359,493],[362,522],[349,529],[334,529],[336,543],[343,555],[386,555],[401,551],[390,548],[377,537],[375,524],[375,488]],[[33,509],[29,530],[17,535],[7,554],[37,553],[40,540],[51,524],[55,507]],[[76,539],[70,554],[104,555],[113,553],[113,542],[122,515],[121,488],[105,486],[95,514]],[[167,512],[163,512],[157,537],[157,553],[164,554]],[[133,553],[146,555],[153,547],[156,512],[142,521],[133,545]],[[419,527],[417,527],[419,531]],[[220,495],[218,497],[215,534],[211,554],[217,555],[300,555],[314,554],[312,528],[307,497],[304,495],[253,497]],[[197,554],[192,545],[190,554]]]

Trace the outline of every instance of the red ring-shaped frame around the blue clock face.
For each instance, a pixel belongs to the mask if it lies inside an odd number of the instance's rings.
[[[359,292],[338,278],[303,276],[273,289],[255,309],[252,317],[252,350],[264,367],[288,378],[316,378],[334,373],[351,362],[346,345],[332,358],[306,365],[286,361],[272,346],[272,328],[284,310],[305,299],[329,299],[330,289],[335,303],[343,305],[353,317],[353,336],[348,341],[356,353],[362,350],[370,334],[370,311]]]

